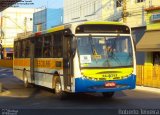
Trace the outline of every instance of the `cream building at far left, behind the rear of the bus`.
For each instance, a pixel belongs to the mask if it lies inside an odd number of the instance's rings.
[[[3,57],[13,57],[13,42],[18,33],[33,30],[33,13],[31,8],[7,8],[1,12],[0,36],[3,47]]]

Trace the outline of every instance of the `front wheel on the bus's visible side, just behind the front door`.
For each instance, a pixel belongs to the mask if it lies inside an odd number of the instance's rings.
[[[55,95],[58,99],[65,99],[66,98],[66,93],[62,91],[62,85],[61,85],[61,80],[59,76],[55,77],[55,86],[54,86],[54,91]]]

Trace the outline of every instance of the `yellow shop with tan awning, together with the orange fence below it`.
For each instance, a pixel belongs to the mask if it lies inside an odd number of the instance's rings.
[[[145,52],[145,63],[137,67],[141,85],[160,88],[160,5],[148,7],[147,29],[137,44],[137,50]]]

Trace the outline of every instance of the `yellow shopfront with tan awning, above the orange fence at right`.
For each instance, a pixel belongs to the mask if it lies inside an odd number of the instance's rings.
[[[146,53],[145,65],[160,65],[160,6],[145,11],[147,30],[138,42],[137,50]]]

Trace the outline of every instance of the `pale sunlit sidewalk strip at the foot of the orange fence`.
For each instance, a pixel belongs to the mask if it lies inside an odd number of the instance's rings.
[[[160,88],[152,88],[152,87],[144,87],[144,86],[136,86],[135,90],[153,92],[153,93],[160,93]]]

